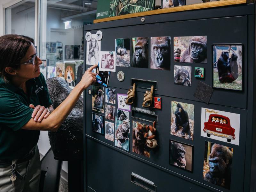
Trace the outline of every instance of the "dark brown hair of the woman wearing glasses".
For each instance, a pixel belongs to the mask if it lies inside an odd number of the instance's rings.
[[[6,67],[20,68],[20,61],[25,57],[34,39],[23,35],[4,35],[0,37],[0,77],[8,83],[11,75],[5,72]]]

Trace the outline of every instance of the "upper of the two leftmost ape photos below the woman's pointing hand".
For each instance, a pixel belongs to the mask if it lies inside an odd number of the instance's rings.
[[[104,113],[104,87],[92,86],[92,110]]]

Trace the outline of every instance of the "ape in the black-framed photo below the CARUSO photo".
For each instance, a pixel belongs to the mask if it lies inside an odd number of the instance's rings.
[[[181,143],[171,141],[171,143],[170,143],[170,164],[185,169],[185,167],[186,167],[185,154],[186,154],[186,150]]]

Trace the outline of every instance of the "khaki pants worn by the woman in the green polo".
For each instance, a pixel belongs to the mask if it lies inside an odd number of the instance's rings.
[[[17,178],[12,188],[12,167],[0,168],[0,191],[1,192],[38,192],[41,162],[38,148],[36,148],[35,156],[20,164],[16,164],[16,170],[23,176],[23,179]]]

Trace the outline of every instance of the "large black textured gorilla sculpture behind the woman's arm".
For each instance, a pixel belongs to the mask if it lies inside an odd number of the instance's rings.
[[[53,108],[57,108],[70,94],[72,89],[62,78],[46,79]],[[76,102],[58,131],[48,131],[50,145],[55,159],[62,161],[83,159],[83,98]]]

